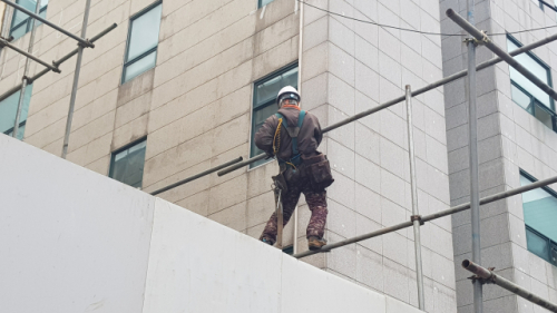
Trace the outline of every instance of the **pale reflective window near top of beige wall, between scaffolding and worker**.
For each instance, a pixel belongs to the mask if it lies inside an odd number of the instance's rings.
[[[123,84],[155,67],[162,10],[163,4],[157,2],[130,18]]]

